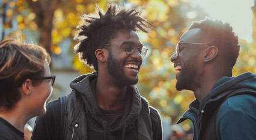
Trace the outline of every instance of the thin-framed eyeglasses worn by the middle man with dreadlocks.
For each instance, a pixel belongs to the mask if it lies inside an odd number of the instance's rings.
[[[133,54],[135,49],[137,48],[137,50],[142,55],[142,57],[145,57],[146,54],[147,54],[147,50],[149,50],[147,48],[147,46],[141,45],[139,47],[136,47],[133,43],[127,43],[127,44],[105,44],[105,45],[103,45],[103,47],[105,47],[105,46],[112,46],[112,45],[124,46],[124,51],[128,55]]]

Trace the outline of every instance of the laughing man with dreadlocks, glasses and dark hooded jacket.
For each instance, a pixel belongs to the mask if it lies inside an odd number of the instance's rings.
[[[99,17],[83,15],[75,37],[75,53],[96,72],[74,79],[70,95],[48,104],[32,139],[161,140],[160,115],[135,86],[148,50],[136,31],[148,33],[151,24],[139,9],[96,9]]]

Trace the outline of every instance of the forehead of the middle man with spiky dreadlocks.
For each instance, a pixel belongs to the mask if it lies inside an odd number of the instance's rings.
[[[121,29],[117,30],[117,36],[111,40],[113,44],[122,44],[124,41],[133,42],[134,44],[142,44],[137,33],[133,30]]]

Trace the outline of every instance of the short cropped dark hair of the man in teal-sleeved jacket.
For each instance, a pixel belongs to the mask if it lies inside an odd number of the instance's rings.
[[[211,44],[218,48],[219,54],[224,58],[223,61],[231,68],[234,67],[240,45],[238,44],[238,37],[233,32],[233,27],[229,23],[206,17],[204,20],[193,22],[188,30],[193,28],[200,28],[204,38],[209,38]]]

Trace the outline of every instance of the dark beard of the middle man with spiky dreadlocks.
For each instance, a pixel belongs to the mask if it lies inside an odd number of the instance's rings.
[[[109,51],[109,57],[107,58],[107,71],[109,72],[109,75],[113,77],[113,81],[116,83],[117,86],[131,86],[136,85],[136,83],[139,81],[138,78],[132,79],[129,78],[126,74],[124,74],[123,71],[123,65],[124,63],[122,61],[116,60],[112,52]]]

